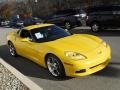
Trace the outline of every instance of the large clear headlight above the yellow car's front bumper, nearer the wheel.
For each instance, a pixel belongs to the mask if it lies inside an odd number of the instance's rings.
[[[65,56],[70,57],[71,59],[77,59],[77,60],[84,60],[86,57],[80,53],[67,51],[65,52]]]

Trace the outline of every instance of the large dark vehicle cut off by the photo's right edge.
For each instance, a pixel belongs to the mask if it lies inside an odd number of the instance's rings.
[[[86,23],[94,32],[120,28],[120,6],[118,5],[89,7],[86,13]]]

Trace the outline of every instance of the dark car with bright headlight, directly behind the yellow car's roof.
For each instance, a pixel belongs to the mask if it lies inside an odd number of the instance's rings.
[[[52,23],[65,29],[71,29],[74,26],[83,24],[86,13],[81,9],[60,10],[48,16],[45,23]]]

